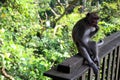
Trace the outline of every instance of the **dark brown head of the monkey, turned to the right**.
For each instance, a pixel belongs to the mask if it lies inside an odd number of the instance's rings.
[[[97,15],[97,12],[87,13],[86,19],[90,26],[97,27],[99,20],[99,16]]]

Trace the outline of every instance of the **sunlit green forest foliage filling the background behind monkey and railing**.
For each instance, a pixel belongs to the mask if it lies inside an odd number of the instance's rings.
[[[72,28],[92,11],[94,40],[120,31],[119,0],[1,0],[0,80],[51,80],[43,73],[77,53]]]

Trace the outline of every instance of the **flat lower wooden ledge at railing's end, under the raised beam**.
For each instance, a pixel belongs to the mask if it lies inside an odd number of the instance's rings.
[[[62,73],[56,70],[56,68],[52,68],[51,70],[44,73],[45,76],[56,78],[57,80],[74,80],[79,78],[82,74],[84,74],[88,70],[87,65],[83,65],[75,69],[74,72],[67,74]]]

